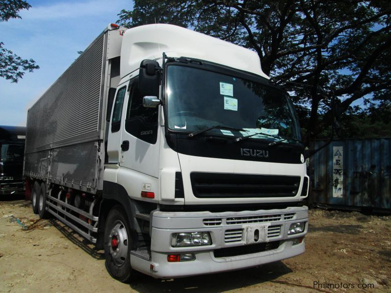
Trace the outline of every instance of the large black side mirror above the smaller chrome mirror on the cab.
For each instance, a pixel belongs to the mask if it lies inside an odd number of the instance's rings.
[[[160,85],[160,66],[154,60],[143,60],[138,75],[138,89],[144,96],[158,96]]]

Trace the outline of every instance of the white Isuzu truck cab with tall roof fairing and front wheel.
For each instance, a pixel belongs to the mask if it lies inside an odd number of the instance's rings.
[[[107,222],[109,272],[129,277],[128,249],[131,268],[161,278],[303,253],[300,126],[258,55],[167,24],[123,37],[103,199],[123,198],[132,232]]]

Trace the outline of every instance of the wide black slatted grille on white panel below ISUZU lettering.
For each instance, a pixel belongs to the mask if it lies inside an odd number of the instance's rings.
[[[198,198],[294,197],[300,176],[203,173],[190,174]]]

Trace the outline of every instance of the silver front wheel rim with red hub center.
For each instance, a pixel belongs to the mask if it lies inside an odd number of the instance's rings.
[[[128,233],[124,223],[117,220],[109,234],[109,249],[113,262],[117,266],[125,263],[128,256]]]

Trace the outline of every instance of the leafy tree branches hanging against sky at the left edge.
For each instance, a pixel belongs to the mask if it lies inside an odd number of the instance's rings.
[[[11,18],[21,18],[18,14],[22,9],[31,7],[26,1],[21,0],[0,0],[0,22],[8,21]],[[32,59],[22,59],[12,51],[4,48],[4,43],[0,42],[0,77],[17,83],[23,77],[23,71],[33,72],[40,67]]]

